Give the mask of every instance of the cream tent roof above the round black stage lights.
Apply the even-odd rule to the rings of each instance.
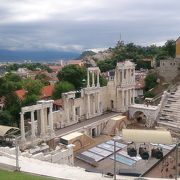
[[[122,139],[126,142],[172,144],[171,134],[165,130],[123,129]]]

